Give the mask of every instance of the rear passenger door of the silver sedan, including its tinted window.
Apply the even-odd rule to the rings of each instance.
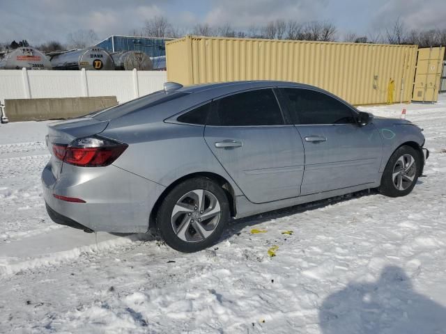
[[[299,196],[302,140],[293,125],[285,124],[271,88],[213,101],[204,138],[251,202]]]

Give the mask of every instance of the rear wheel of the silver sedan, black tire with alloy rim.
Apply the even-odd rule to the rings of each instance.
[[[207,177],[194,177],[167,194],[157,212],[156,227],[171,248],[197,252],[220,239],[229,212],[224,189]]]

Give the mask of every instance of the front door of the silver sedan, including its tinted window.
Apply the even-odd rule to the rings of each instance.
[[[301,195],[378,180],[383,143],[373,124],[360,127],[351,106],[321,91],[279,92],[305,147]]]

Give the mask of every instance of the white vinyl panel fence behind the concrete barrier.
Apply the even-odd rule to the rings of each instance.
[[[166,81],[165,71],[0,70],[0,101],[116,96],[123,103],[161,90]]]

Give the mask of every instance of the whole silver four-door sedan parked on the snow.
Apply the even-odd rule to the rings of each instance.
[[[429,151],[422,129],[325,90],[240,81],[164,90],[49,125],[44,198],[86,232],[157,228],[183,252],[240,218],[379,188],[404,196]]]

